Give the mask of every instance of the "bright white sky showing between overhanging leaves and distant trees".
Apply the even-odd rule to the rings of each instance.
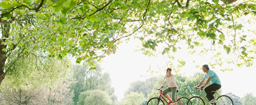
[[[124,92],[129,88],[130,83],[138,80],[145,80],[151,77],[146,72],[151,65],[151,70],[158,71],[158,68],[166,68],[166,61],[161,54],[158,57],[147,57],[141,52],[135,52],[137,45],[141,45],[139,41],[131,40],[129,43],[123,43],[119,46],[116,54],[112,54],[104,58],[102,69],[104,72],[110,74],[112,85],[115,89],[115,94],[118,96],[118,100],[121,101],[124,98]],[[180,57],[183,57],[182,54]],[[204,65],[206,61],[199,60],[197,65]],[[193,75],[196,72],[202,72],[201,69],[194,68],[195,64],[186,61],[186,67],[181,69],[185,75]],[[209,67],[211,69],[211,67]],[[221,72],[218,69],[214,70],[220,77],[224,93],[232,92],[233,94],[243,97],[246,93],[253,93],[256,96],[256,90],[253,88],[252,77],[256,73],[255,65],[251,68],[238,68],[234,71]],[[165,69],[163,69],[165,71]],[[165,72],[163,72],[163,75]],[[141,77],[143,75],[143,77]],[[198,81],[199,83],[200,81]]]

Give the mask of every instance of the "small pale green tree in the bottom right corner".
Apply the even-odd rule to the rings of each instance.
[[[247,93],[242,99],[241,102],[243,105],[255,105],[256,97],[252,93]]]

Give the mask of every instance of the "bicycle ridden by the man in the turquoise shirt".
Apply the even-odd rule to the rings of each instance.
[[[200,89],[200,87],[197,87],[196,89]],[[209,103],[210,105],[234,105],[232,99],[229,96],[221,95],[217,91],[212,91],[212,92],[215,92],[214,97],[217,98],[216,99],[217,102],[216,103],[209,103],[207,101],[207,103]],[[200,89],[199,96],[193,96],[193,97],[189,98],[189,100],[187,101],[187,105],[205,105],[204,100],[208,100],[208,99],[202,93],[205,93],[203,88]]]

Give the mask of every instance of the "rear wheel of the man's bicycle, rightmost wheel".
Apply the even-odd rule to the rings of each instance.
[[[229,96],[221,95],[217,98],[216,105],[234,105],[234,103]]]

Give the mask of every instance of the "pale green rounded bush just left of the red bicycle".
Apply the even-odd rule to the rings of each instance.
[[[130,92],[125,96],[122,105],[142,105],[145,101],[146,98],[142,93]]]

